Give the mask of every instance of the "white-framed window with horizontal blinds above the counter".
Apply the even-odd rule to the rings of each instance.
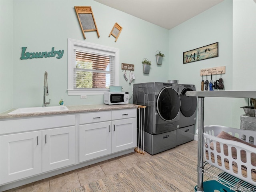
[[[68,39],[68,95],[98,95],[119,84],[119,49]]]

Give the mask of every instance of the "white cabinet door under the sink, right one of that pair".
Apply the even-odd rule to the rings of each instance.
[[[76,127],[42,131],[42,172],[76,162]]]

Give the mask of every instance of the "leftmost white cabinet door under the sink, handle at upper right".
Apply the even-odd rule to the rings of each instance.
[[[42,131],[0,136],[0,184],[42,172]]]

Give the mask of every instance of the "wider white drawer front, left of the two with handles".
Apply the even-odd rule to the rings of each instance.
[[[111,120],[111,111],[85,113],[85,114],[79,115],[79,124],[110,121],[110,120]]]

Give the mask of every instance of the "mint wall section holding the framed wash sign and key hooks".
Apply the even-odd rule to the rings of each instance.
[[[170,30],[169,35],[170,79],[178,79],[184,84],[194,84],[196,90],[201,90],[200,69],[226,66],[226,74],[222,75],[224,86],[225,90],[232,90],[232,1],[224,1],[191,18]],[[218,57],[183,64],[183,52],[215,42],[219,42]],[[213,76],[213,80],[215,78],[216,76]],[[217,76],[218,78],[220,75]],[[208,80],[210,81],[210,76]],[[225,116],[222,113],[216,115],[222,112],[223,106],[230,110],[227,100],[227,98],[204,99],[205,124],[231,126],[232,113],[228,112]],[[218,118],[218,122],[215,118]]]

